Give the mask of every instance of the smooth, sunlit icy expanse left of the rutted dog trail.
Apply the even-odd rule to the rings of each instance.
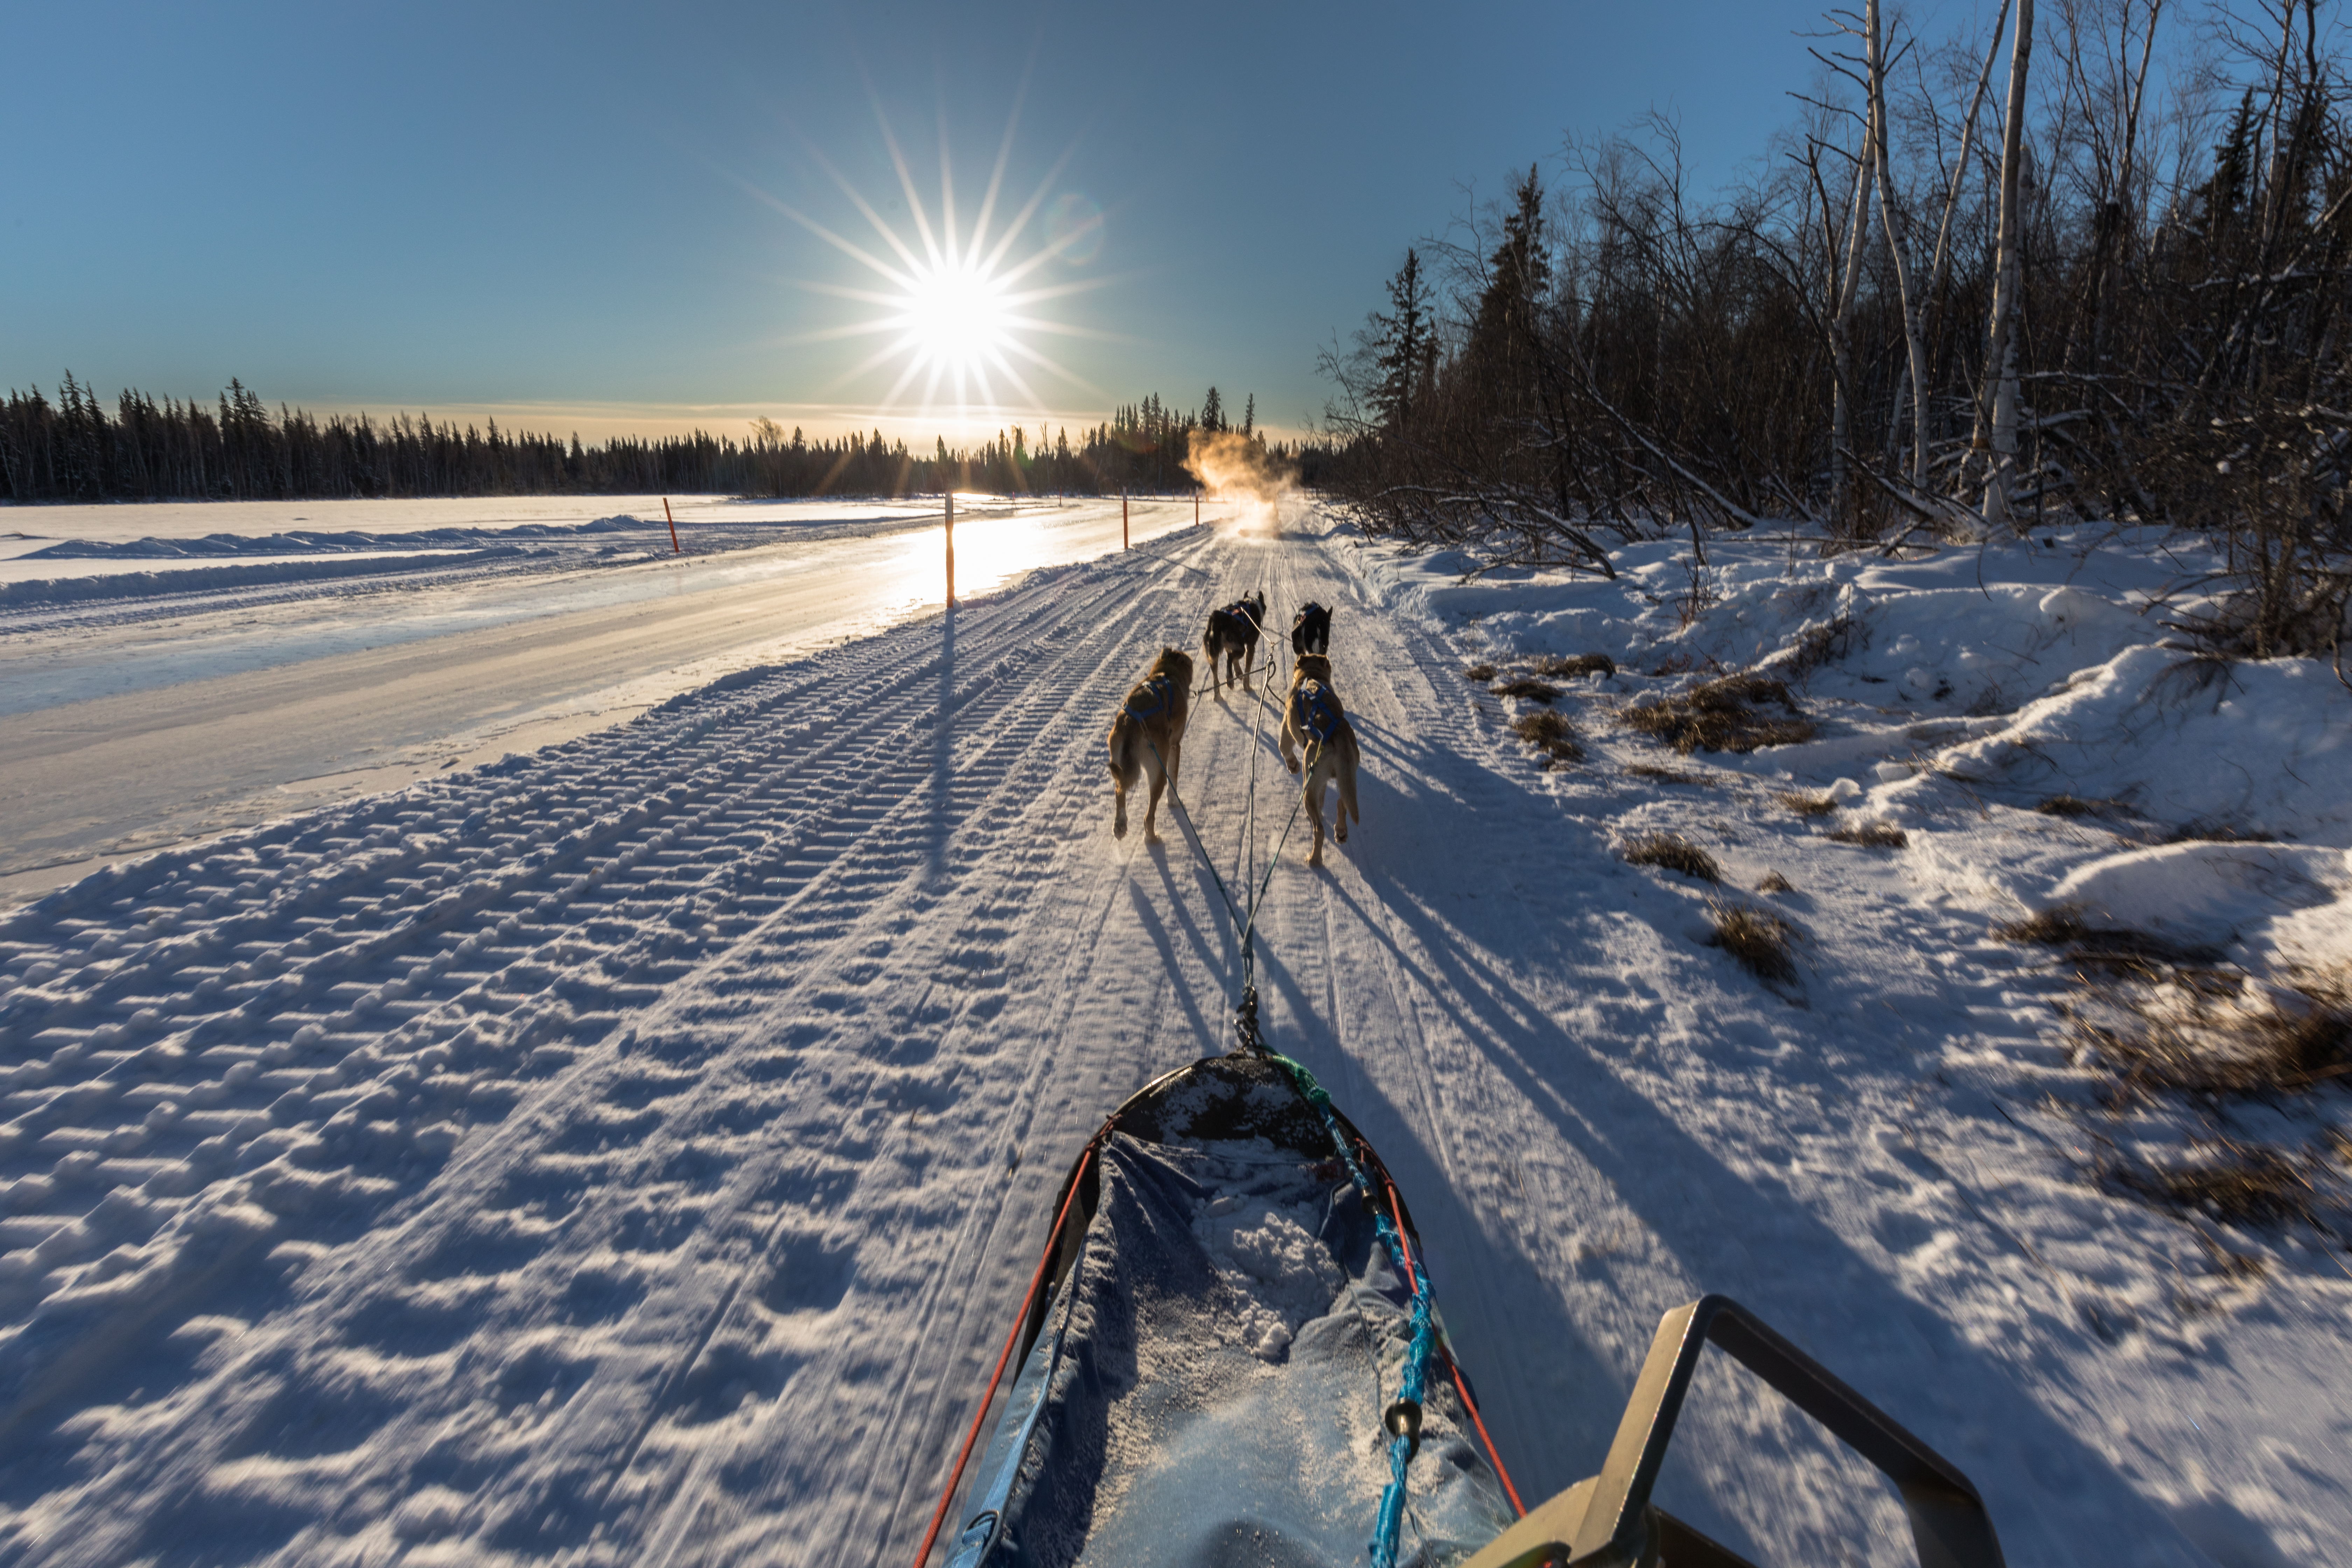
[[[386,505],[310,503],[301,522],[383,529]],[[52,543],[14,562],[85,576],[21,581],[24,602],[0,602],[0,903],[106,858],[564,741],[941,599],[936,517],[880,503],[814,517],[696,505],[684,557],[668,552],[659,508],[649,524],[449,527],[466,508],[440,503],[390,522],[445,524],[449,548],[393,557],[348,545],[435,536],[183,536],[240,508],[26,508],[24,522],[122,534],[125,515],[148,510],[162,536]],[[971,592],[1115,548],[1122,527],[1117,498],[964,510],[957,574]],[[1134,538],[1192,512],[1138,501]],[[273,541],[320,548],[254,555]],[[115,567],[146,571],[132,583]]]

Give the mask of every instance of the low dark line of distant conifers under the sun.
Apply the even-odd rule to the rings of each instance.
[[[365,496],[543,496],[717,491],[736,496],[898,496],[948,484],[1000,494],[1110,494],[1190,489],[1195,433],[1228,430],[1209,388],[1178,414],[1152,393],[1122,407],[1073,444],[1063,428],[1009,425],[978,449],[936,440],[929,454],[880,430],[807,440],[767,418],[750,435],[614,437],[588,447],[574,435],[510,433],[428,416],[318,418],[268,404],[230,381],[214,404],[125,390],[113,414],[71,374],[56,402],[35,386],[0,404],[0,498],[7,501],[332,501]],[[1256,397],[1237,430],[1256,430]],[[1270,456],[1315,465],[1319,449],[1270,444]]]

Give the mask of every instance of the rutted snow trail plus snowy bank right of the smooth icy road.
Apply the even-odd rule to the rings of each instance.
[[[2164,541],[1710,548],[1693,599],[1672,543],[1463,583],[1315,517],[1181,531],[19,910],[0,1559],[908,1561],[1068,1159],[1230,1039],[1211,879],[1110,837],[1101,731],[1263,585],[1338,604],[1367,752],[1357,835],[1272,872],[1268,1039],[1404,1182],[1522,1493],[1590,1474],[1658,1314],[1724,1291],[1955,1458],[2011,1563],[2333,1561],[2343,1234],[2100,1175],[2300,1157],[2340,1079],[2119,1100],[2060,1041],[2074,966],[1997,926],[2079,905],[2288,1006],[2352,957],[2352,693],[2159,646],[2199,569]],[[1585,651],[1618,672],[1548,705],[1463,677]],[[1818,733],[1616,722],[1743,665]],[[1538,708],[1581,762],[1512,733]],[[1287,804],[1254,719],[1202,701],[1185,743],[1228,879]],[[1653,832],[1722,884],[1628,865]],[[1795,978],[1712,903],[1788,922]],[[1910,1559],[1722,1366],[1661,1502],[1766,1563]]]

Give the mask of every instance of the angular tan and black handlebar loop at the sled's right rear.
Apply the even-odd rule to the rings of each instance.
[[[1903,1493],[1919,1568],[2002,1568],[2002,1542],[1976,1486],[1729,1295],[1703,1295],[1658,1324],[1602,1474],[1538,1505],[1463,1568],[1651,1568],[1661,1561],[1670,1568],[1755,1568],[1649,1502],[1708,1340],[1886,1472]]]

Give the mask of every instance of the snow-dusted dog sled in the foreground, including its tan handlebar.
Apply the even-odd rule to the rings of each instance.
[[[1665,1314],[1602,1472],[1522,1514],[1402,1194],[1284,1058],[1141,1088],[1054,1213],[950,1568],[1755,1568],[1649,1502],[1708,1342],[1896,1481],[1922,1568],[2002,1568],[1966,1476],[1722,1295]]]

